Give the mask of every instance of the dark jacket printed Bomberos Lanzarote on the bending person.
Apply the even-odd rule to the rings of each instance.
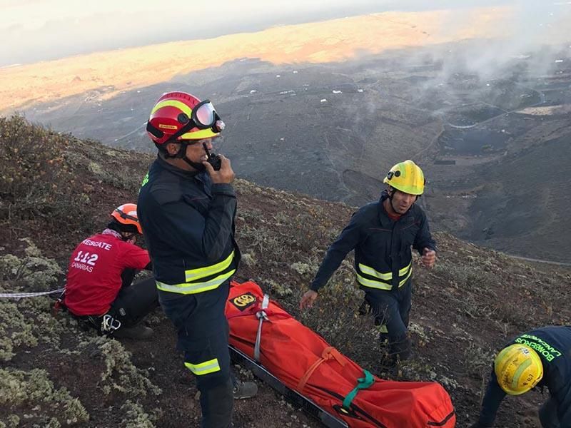
[[[504,347],[522,343],[532,347],[540,356],[543,377],[536,387],[547,387],[557,402],[557,417],[561,427],[571,427],[571,326],[550,325],[522,333]],[[502,348],[503,349],[503,348]],[[480,411],[480,424],[491,427],[497,409],[505,397],[504,390],[497,383],[492,367],[490,382]]]

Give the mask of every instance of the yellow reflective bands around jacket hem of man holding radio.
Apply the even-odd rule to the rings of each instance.
[[[236,272],[236,269],[224,272],[224,270],[228,269],[231,265],[233,259],[234,252],[232,251],[226,259],[216,263],[216,265],[186,270],[184,275],[187,282],[182,282],[181,284],[165,284],[164,282],[156,281],[156,287],[158,290],[178,292],[179,294],[195,294],[197,292],[214,290]],[[220,272],[223,273],[211,280],[200,282],[201,279],[216,275]]]

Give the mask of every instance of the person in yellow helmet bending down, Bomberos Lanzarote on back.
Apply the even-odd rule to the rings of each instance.
[[[505,394],[520,395],[546,386],[550,398],[539,411],[543,428],[571,428],[571,327],[540,327],[498,353],[478,421],[471,428],[492,427]]]

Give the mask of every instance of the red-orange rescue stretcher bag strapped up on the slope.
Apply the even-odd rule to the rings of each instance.
[[[269,300],[255,282],[231,282],[226,317],[233,358],[255,363],[254,374],[328,427],[455,426],[454,407],[440,384],[373,376]]]

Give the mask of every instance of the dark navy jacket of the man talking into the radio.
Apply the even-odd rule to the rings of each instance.
[[[157,158],[139,191],[137,215],[157,281],[186,282],[186,270],[220,263],[233,250],[226,270],[238,267],[236,193],[230,184],[212,183],[206,171],[191,173]]]

